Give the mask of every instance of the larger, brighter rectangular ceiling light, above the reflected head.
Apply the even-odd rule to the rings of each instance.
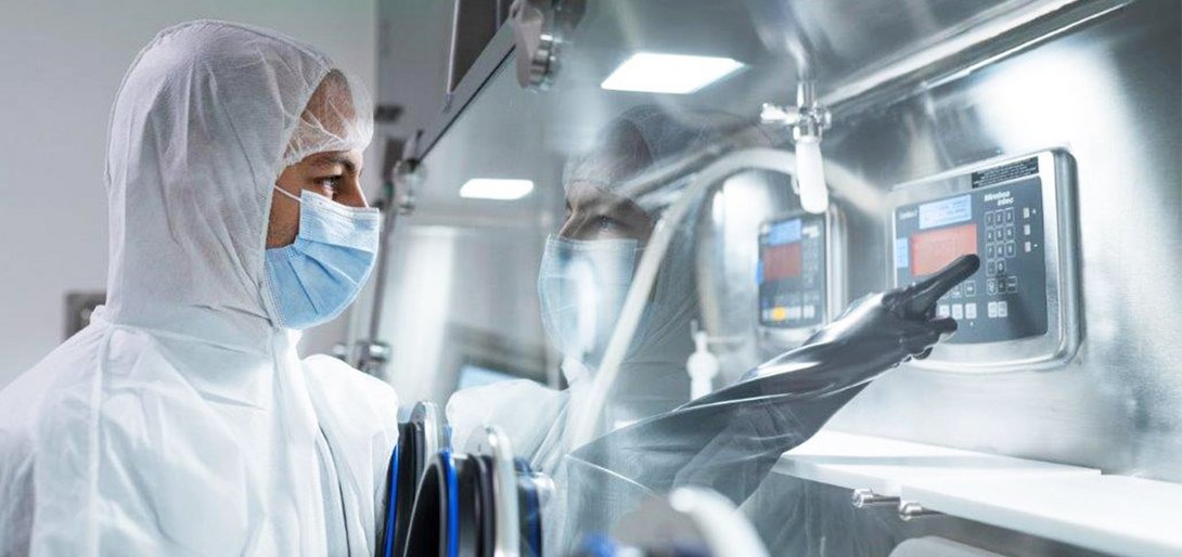
[[[730,58],[637,52],[624,60],[600,87],[647,93],[693,93],[742,67]]]

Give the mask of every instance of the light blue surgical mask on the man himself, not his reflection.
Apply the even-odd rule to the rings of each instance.
[[[349,306],[374,269],[382,214],[352,208],[304,190],[296,242],[266,253],[266,288],[278,326],[292,329],[327,322]]]

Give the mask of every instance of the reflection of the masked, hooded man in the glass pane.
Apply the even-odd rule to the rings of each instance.
[[[567,162],[563,172],[566,217],[546,242],[538,288],[543,321],[563,354],[561,368],[571,387],[556,393],[518,381],[456,393],[448,404],[456,446],[463,446],[472,428],[492,422],[509,432],[519,454],[532,454],[533,464],[544,470],[570,448],[566,420],[590,386],[636,266],[670,199],[668,186],[639,198],[629,197],[622,186],[716,140],[735,120],[728,124],[721,125],[713,116],[675,117],[638,106],[609,123],[590,151]],[[686,361],[694,349],[690,322],[697,319],[690,230],[689,225],[678,230],[661,263],[604,412],[611,428],[689,399]]]

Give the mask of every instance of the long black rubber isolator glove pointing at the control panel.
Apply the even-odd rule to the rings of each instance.
[[[921,282],[858,300],[739,382],[576,448],[570,473],[643,492],[707,486],[742,502],[780,454],[808,440],[871,380],[927,356],[954,333],[955,321],[935,316],[936,300],[980,266],[967,255]]]

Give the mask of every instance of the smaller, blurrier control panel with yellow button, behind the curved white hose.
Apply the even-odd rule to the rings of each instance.
[[[765,222],[759,234],[759,322],[778,348],[807,339],[845,303],[844,262],[836,209]]]

